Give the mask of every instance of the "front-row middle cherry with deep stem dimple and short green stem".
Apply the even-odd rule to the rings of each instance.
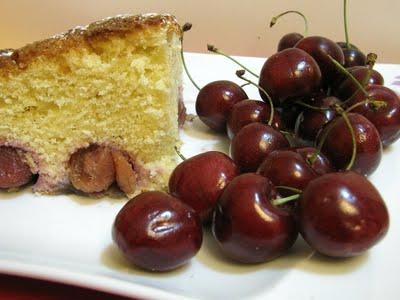
[[[222,252],[242,263],[261,263],[285,253],[296,241],[294,217],[272,205],[276,192],[260,175],[236,177],[218,201],[212,232]]]

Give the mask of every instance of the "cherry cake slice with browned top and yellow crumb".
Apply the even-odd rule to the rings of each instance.
[[[118,16],[0,51],[0,188],[25,184],[24,164],[39,193],[166,187],[184,114],[181,35],[170,15]],[[10,151],[17,162],[1,164]]]

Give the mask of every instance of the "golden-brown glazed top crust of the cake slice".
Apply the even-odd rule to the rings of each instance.
[[[28,44],[19,49],[0,50],[0,73],[25,69],[38,57],[54,57],[60,53],[115,36],[125,36],[150,27],[167,27],[182,35],[176,18],[169,14],[120,15],[79,26],[52,38]]]

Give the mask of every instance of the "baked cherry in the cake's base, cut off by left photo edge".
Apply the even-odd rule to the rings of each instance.
[[[0,189],[19,188],[28,184],[32,178],[23,151],[0,146]]]

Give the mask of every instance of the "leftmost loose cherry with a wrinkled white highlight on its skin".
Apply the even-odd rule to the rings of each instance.
[[[146,192],[126,203],[114,221],[112,236],[131,263],[149,271],[184,265],[203,240],[197,214],[162,192]]]

